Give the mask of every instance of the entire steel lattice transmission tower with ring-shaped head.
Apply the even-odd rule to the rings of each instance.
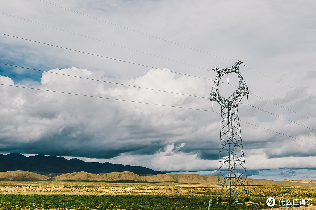
[[[217,101],[222,106],[217,200],[219,200],[223,188],[226,188],[230,200],[234,198],[235,201],[238,201],[240,186],[250,200],[237,110],[242,97],[248,94],[248,87],[239,72],[239,65],[241,63],[238,60],[230,68],[220,70],[215,67],[213,69],[217,75],[210,97],[211,101]],[[226,99],[219,95],[218,86],[222,76],[229,73],[237,74],[239,87]]]

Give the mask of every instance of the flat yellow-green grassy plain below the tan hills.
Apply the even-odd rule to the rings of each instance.
[[[178,183],[109,183],[92,181],[3,181],[0,209],[265,209],[267,198],[313,199],[315,187],[249,186],[250,200],[240,191],[237,202],[229,201],[224,190],[217,201],[217,187]]]

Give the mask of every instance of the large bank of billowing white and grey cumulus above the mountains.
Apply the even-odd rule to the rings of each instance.
[[[135,78],[112,78],[106,77],[103,71],[76,67],[52,69],[43,73],[40,85],[22,85],[111,99],[2,85],[1,150],[6,153],[82,157],[88,161],[143,165],[170,172],[216,170],[220,115],[168,107],[209,109],[208,99],[181,95],[204,97],[206,95],[197,93],[207,92],[209,82],[189,76],[176,78],[170,70],[164,70],[151,69]],[[9,77],[0,77],[0,81],[14,84]],[[132,86],[172,90],[181,94]],[[304,134],[304,130],[286,131],[280,119],[272,119],[270,124],[258,119],[259,116],[250,116],[247,121],[298,135],[302,140],[314,136]],[[313,147],[307,147],[302,141],[288,141],[284,136],[245,124],[242,124],[241,130],[245,136],[244,150],[249,175],[258,175],[258,169],[289,165],[297,168],[316,167],[315,163],[306,162],[313,156]],[[279,143],[274,139],[279,139]],[[295,153],[291,152],[294,147]],[[280,175],[287,176],[288,173]]]

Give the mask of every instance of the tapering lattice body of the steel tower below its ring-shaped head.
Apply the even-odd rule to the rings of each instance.
[[[240,186],[249,199],[237,105],[222,106],[217,200],[226,188],[230,200],[238,201]]]

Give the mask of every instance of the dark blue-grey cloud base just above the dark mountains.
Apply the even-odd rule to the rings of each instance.
[[[121,153],[131,155],[151,155],[163,150],[164,145],[144,145],[138,143],[121,142],[100,142],[89,139],[89,136],[70,138],[68,135],[77,128],[70,128],[63,131],[62,135],[51,135],[45,139],[38,139],[33,143],[19,143],[2,145],[2,150],[6,152],[19,152],[28,154],[45,154],[55,156],[76,156],[87,158],[112,158]]]

